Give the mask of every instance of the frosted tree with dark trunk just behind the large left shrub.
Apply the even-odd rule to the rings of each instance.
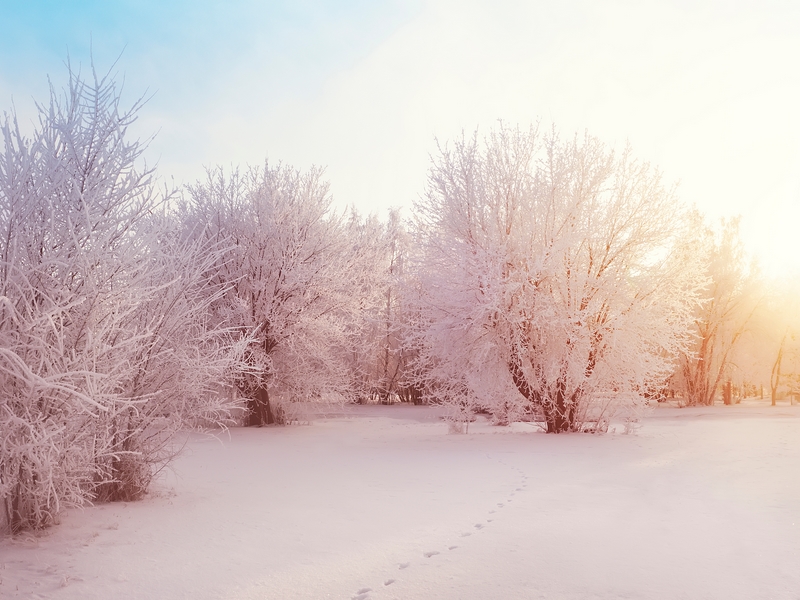
[[[296,401],[352,398],[348,361],[376,301],[380,240],[332,210],[322,170],[210,171],[182,210],[202,239],[229,245],[210,274],[231,289],[212,314],[252,340],[239,382],[247,424],[287,422]]]

